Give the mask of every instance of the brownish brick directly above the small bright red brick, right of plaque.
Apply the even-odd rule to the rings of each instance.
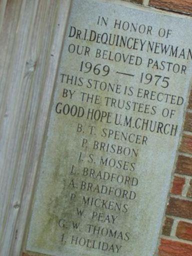
[[[192,176],[192,157],[179,155],[175,172]]]

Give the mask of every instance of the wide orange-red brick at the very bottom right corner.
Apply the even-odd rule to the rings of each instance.
[[[192,245],[184,242],[161,239],[158,251],[159,256],[191,256]]]

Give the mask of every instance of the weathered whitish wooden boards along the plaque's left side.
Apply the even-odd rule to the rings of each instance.
[[[0,255],[21,253],[69,3],[0,2]]]

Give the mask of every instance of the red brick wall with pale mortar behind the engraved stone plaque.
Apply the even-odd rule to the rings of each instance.
[[[192,0],[143,0],[167,11],[192,15]],[[192,30],[191,30],[192,32]],[[159,256],[192,256],[192,90],[162,227]]]

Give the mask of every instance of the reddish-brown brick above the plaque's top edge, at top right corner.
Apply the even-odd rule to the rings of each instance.
[[[150,0],[150,6],[192,14],[192,0]]]

